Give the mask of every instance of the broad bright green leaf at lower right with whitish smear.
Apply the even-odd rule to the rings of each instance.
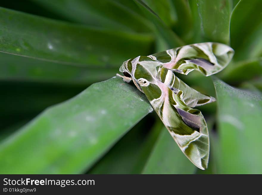
[[[214,79],[220,138],[218,173],[261,174],[262,97]]]

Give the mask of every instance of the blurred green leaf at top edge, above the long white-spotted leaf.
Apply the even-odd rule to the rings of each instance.
[[[130,0],[33,0],[69,21],[124,31],[149,32],[148,21]],[[62,5],[62,6],[61,6]]]

